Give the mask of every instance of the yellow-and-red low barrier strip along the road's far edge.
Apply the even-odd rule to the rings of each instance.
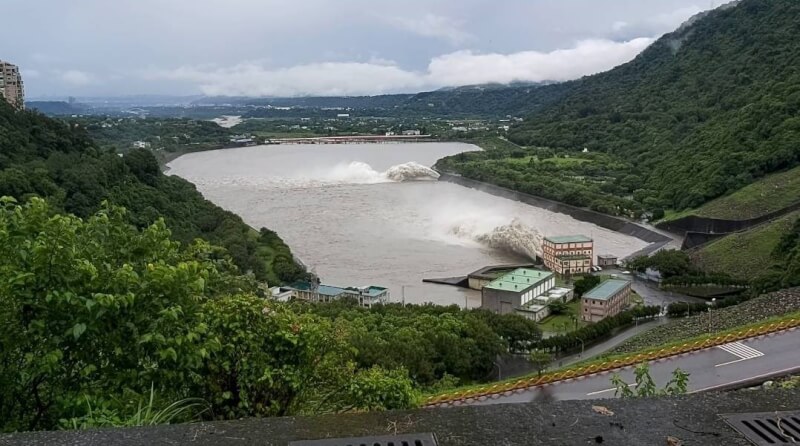
[[[624,358],[613,359],[607,362],[589,364],[574,369],[545,373],[541,376],[535,376],[532,378],[490,384],[476,389],[465,389],[462,391],[454,391],[452,393],[436,395],[429,397],[422,404],[422,407],[454,406],[458,405],[459,403],[468,402],[469,400],[482,400],[492,396],[510,395],[520,390],[527,390],[533,387],[543,386],[545,384],[552,384],[583,376],[591,376],[601,372],[607,372],[610,370],[636,365],[645,361],[669,358],[671,356],[703,350],[709,347],[715,347],[717,345],[727,344],[729,342],[741,341],[743,339],[762,336],[768,333],[774,333],[795,327],[800,327],[800,318],[791,318],[784,321],[771,322],[761,326],[742,329],[713,338],[706,338],[694,342],[686,342],[671,347],[638,353],[635,355],[626,356]]]

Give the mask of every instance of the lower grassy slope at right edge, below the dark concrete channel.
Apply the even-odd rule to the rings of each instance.
[[[734,277],[756,277],[774,263],[772,252],[800,211],[775,221],[714,240],[690,254],[692,262],[706,271],[720,271]]]

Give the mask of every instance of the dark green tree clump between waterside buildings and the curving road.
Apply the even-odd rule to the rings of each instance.
[[[541,339],[534,321],[515,314],[463,311],[455,305],[296,305],[349,327],[347,342],[358,352],[359,367],[403,367],[424,387],[486,380],[499,355],[527,352]]]

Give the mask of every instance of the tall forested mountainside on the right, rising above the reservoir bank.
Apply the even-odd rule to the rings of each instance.
[[[696,207],[793,167],[800,161],[798,17],[793,0],[714,10],[629,63],[559,85],[568,92],[509,135],[553,149],[516,158],[589,158],[579,154],[584,149],[607,158],[493,165],[512,154],[485,154],[450,167],[531,193],[565,186],[571,193],[553,198],[623,214]],[[526,177],[529,164],[537,165],[535,178]],[[542,183],[550,172],[555,184]]]

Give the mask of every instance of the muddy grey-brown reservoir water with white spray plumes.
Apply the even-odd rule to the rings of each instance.
[[[392,301],[480,305],[480,293],[423,278],[529,261],[543,235],[584,234],[595,254],[646,246],[624,234],[436,181],[462,143],[268,145],[198,152],[169,165],[249,225],[278,233],[322,279],[390,288]]]

